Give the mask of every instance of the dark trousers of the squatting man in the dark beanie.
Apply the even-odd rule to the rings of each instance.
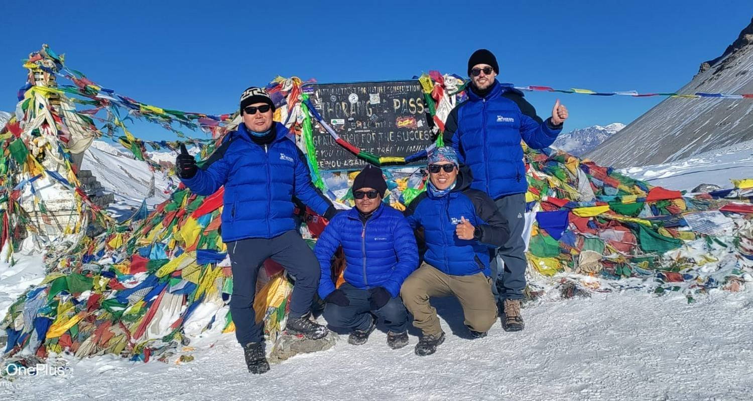
[[[382,308],[372,311],[369,306],[371,298],[369,290],[361,290],[348,283],[343,283],[340,290],[343,290],[345,295],[348,296],[350,305],[340,306],[328,303],[325,306],[324,317],[331,326],[351,330],[366,330],[371,323],[371,312],[373,312],[377,315],[377,318],[384,320],[387,329],[392,333],[403,333],[407,329],[408,312],[399,296],[390,298],[389,302]]]

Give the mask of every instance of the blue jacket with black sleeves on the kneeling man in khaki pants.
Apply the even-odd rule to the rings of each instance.
[[[423,259],[448,275],[491,275],[489,248],[500,247],[510,238],[507,220],[486,193],[471,189],[472,180],[468,167],[462,166],[450,193],[437,198],[426,191],[405,209],[416,238],[425,245]],[[461,217],[479,228],[480,235],[458,238],[455,226]]]

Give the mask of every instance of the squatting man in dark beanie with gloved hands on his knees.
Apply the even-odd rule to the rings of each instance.
[[[382,202],[386,190],[382,170],[366,166],[353,181],[355,208],[332,219],[314,253],[322,266],[319,296],[327,302],[324,316],[329,324],[351,330],[348,342],[362,345],[380,317],[389,330],[387,345],[398,349],[408,344],[400,287],[418,267],[419,255],[403,214]],[[335,288],[330,260],[340,245],[345,283]]]

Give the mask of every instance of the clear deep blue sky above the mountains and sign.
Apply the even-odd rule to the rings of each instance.
[[[42,43],[118,93],[212,114],[233,111],[245,87],[277,74],[319,82],[465,74],[480,47],[497,56],[503,82],[671,92],[753,16],[750,0],[316,3],[3,2],[0,110],[15,108],[21,60]],[[570,109],[567,130],[630,123],[658,102],[526,97],[544,117],[559,97]],[[172,138],[147,124],[134,133]]]

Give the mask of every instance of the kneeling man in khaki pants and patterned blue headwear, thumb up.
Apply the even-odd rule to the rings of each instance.
[[[425,242],[424,263],[401,289],[413,326],[422,333],[416,345],[419,356],[434,354],[444,342],[431,296],[456,296],[471,336],[486,336],[497,318],[489,247],[504,244],[510,236],[492,199],[471,189],[471,172],[459,167],[452,147],[437,147],[428,163],[426,192],[405,210],[416,236]]]

